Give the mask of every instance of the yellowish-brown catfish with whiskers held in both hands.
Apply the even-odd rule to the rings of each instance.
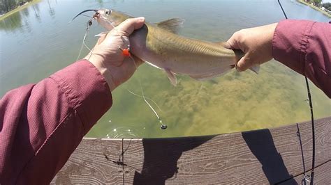
[[[108,31],[132,18],[105,8],[93,11],[96,12],[94,19]],[[131,54],[164,70],[174,86],[177,84],[175,74],[186,74],[197,80],[212,79],[233,69],[236,61],[244,56],[241,50],[226,49],[223,42],[207,42],[177,35],[183,22],[183,19],[177,18],[156,24],[145,22],[141,29],[129,37]],[[259,66],[251,70],[258,73]]]

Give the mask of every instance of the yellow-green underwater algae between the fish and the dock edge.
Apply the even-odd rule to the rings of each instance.
[[[146,72],[148,76],[144,75]],[[137,83],[134,79],[113,94],[113,107],[121,111],[110,110],[110,117],[136,129],[141,127],[140,131],[147,127],[143,130],[146,137],[222,134],[279,127],[310,118],[309,106],[304,102],[307,98],[304,78],[277,61],[262,65],[258,75],[233,70],[202,83],[180,76],[177,87],[170,85],[161,70],[148,65],[140,67],[135,75],[142,79],[145,95],[161,106],[160,115],[168,129],[159,129],[142,99],[126,95],[126,87],[133,88]],[[331,102],[320,101],[327,99],[323,92],[314,87],[312,94],[313,102],[318,102],[314,105],[316,118],[330,116]],[[94,130],[102,129],[97,125]]]

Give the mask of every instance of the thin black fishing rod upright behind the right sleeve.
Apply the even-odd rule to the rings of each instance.
[[[286,19],[288,19],[283,6],[281,6],[280,0],[278,0],[279,6],[281,7],[281,10],[283,11],[283,14]],[[310,88],[309,88],[309,83],[306,74],[304,74],[304,79],[306,80],[306,86],[307,86],[307,94],[308,94],[308,99],[309,99],[309,108],[310,108],[310,114],[311,114],[311,129],[312,129],[312,137],[313,137],[313,159],[311,160],[311,174],[305,175],[304,172],[304,179],[307,182],[310,182],[310,184],[313,184],[314,182],[314,168],[315,168],[315,124],[314,124],[314,112],[313,112],[313,103],[311,101],[311,93],[310,93]],[[306,183],[304,183],[306,184]]]

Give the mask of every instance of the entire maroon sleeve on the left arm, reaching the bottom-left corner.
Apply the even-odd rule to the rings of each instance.
[[[89,61],[10,90],[0,100],[0,184],[49,184],[111,105]]]

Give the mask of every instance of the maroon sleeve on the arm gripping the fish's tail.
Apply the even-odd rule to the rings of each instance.
[[[272,42],[274,59],[306,75],[331,98],[331,24],[284,20]]]

